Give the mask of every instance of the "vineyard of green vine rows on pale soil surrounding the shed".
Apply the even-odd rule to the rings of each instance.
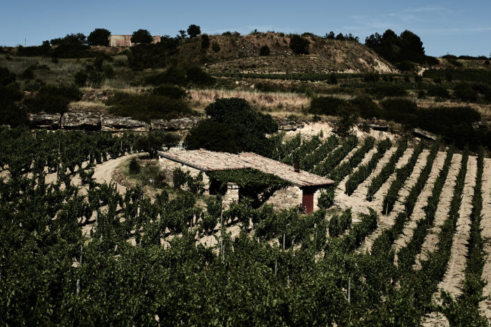
[[[247,198],[223,210],[198,187],[148,196],[116,185],[116,162],[137,152],[132,134],[0,134],[1,325],[491,319],[491,159],[482,148],[276,134],[272,159],[336,182],[307,215]]]

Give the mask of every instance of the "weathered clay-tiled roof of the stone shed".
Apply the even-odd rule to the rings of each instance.
[[[231,154],[208,150],[159,151],[159,156],[196,168],[203,172],[253,168],[263,173],[276,175],[299,187],[327,186],[334,181],[300,170],[295,173],[293,166],[265,158],[253,152]]]

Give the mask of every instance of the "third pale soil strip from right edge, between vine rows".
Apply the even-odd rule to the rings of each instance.
[[[450,202],[453,197],[453,188],[455,181],[457,180],[458,170],[460,169],[460,161],[462,160],[462,154],[453,154],[452,163],[449,168],[449,175],[447,175],[445,184],[440,195],[440,200],[435,213],[435,221],[433,227],[429,230],[426,239],[421,247],[421,253],[416,255],[416,263],[414,269],[420,269],[420,260],[426,260],[426,255],[436,249],[438,244],[438,233],[446,217],[449,215]]]

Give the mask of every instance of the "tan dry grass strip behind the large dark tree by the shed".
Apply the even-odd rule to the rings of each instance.
[[[246,99],[252,106],[268,112],[302,113],[302,107],[309,106],[310,99],[296,93],[261,93],[245,90],[191,90],[196,109],[203,109],[216,99],[240,97]]]

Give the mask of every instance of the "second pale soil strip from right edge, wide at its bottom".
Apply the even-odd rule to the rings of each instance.
[[[474,195],[474,186],[476,185],[477,159],[469,157],[467,161],[467,175],[465,176],[465,186],[462,191],[462,204],[460,205],[457,228],[452,239],[452,249],[447,265],[446,272],[438,288],[444,289],[457,298],[462,294],[462,284],[465,280],[465,262],[467,261],[467,244],[469,242],[469,232],[471,230],[471,211],[472,196]],[[439,292],[437,292],[439,294]],[[437,295],[435,294],[435,296]]]

